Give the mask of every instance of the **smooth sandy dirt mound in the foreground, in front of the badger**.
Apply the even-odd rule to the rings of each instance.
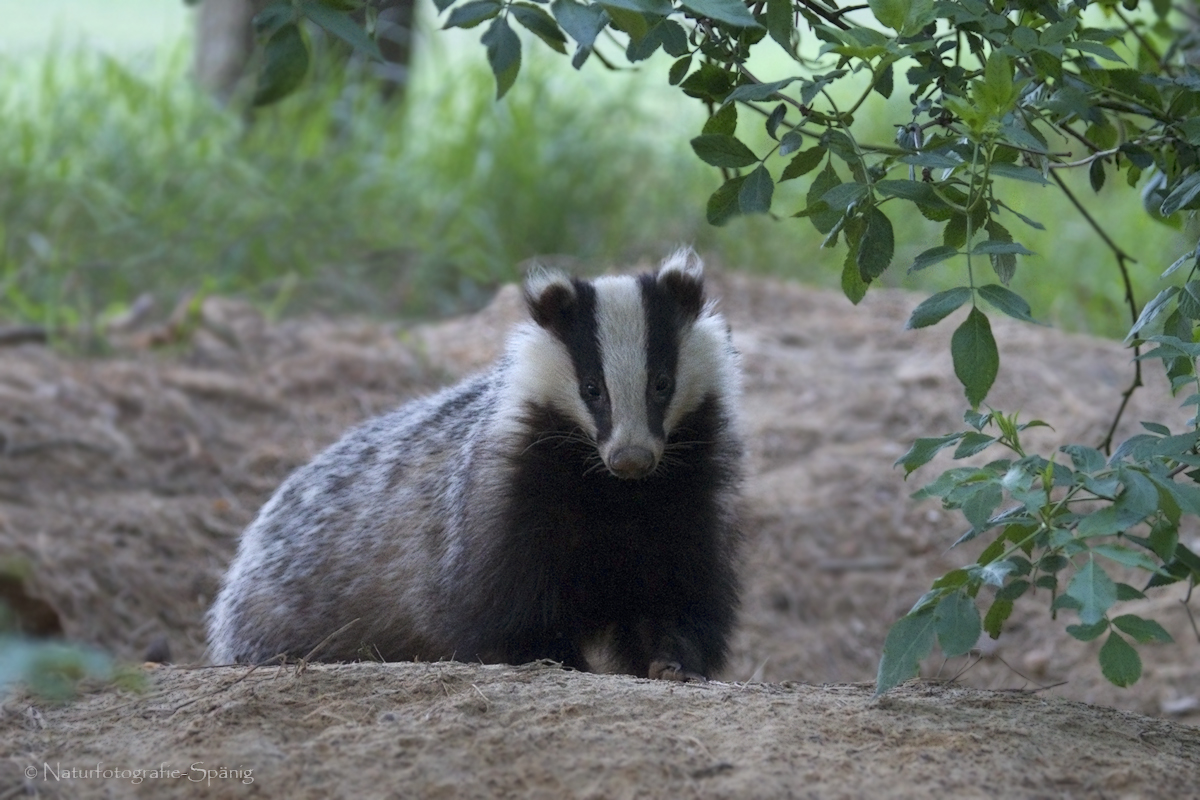
[[[0,784],[49,798],[1187,798],[1200,757],[1187,726],[938,685],[876,703],[863,685],[544,664],[157,672],[144,696],[24,717]]]

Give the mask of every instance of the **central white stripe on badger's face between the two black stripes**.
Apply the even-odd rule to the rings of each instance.
[[[635,278],[607,277],[595,282],[596,338],[605,389],[612,408],[612,433],[604,451],[624,445],[662,445],[650,435],[646,414],[646,311]]]

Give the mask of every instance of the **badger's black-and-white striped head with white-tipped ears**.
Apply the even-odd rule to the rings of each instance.
[[[535,325],[511,350],[511,399],[569,417],[616,477],[652,474],[690,411],[738,391],[728,329],[706,302],[690,249],[656,273],[580,281],[538,272],[524,296]]]

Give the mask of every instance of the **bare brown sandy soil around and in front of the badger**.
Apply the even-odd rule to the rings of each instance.
[[[1018,603],[997,642],[931,658],[926,676],[942,682],[882,702],[853,685],[874,678],[888,625],[929,582],[977,554],[947,551],[955,516],[908,499],[942,464],[907,483],[890,468],[913,438],[961,426],[956,317],[904,331],[919,301],[910,294],[872,293],[856,309],[738,276],[713,290],[745,359],[752,474],[728,682],[551,666],[162,667],[140,696],[97,687],[66,708],[7,698],[0,798],[1195,796],[1200,642],[1178,588],[1130,608],[1176,639],[1141,649],[1132,690],[1103,679],[1098,643],[1067,637],[1040,596]],[[132,661],[166,640],[178,664],[203,663],[204,609],[283,476],[348,425],[486,363],[517,318],[511,291],[475,317],[410,330],[268,324],[210,299],[167,350],[80,360],[7,348],[0,554],[32,564],[26,589],[68,637]],[[1132,377],[1128,351],[994,324],[1003,366],[989,402],[1050,421],[1034,439],[1045,447],[1098,441]],[[1134,396],[1126,434],[1186,416],[1158,378]],[[97,760],[184,772],[139,784],[42,774]],[[253,780],[197,783],[196,762]]]

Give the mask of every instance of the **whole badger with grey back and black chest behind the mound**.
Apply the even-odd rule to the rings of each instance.
[[[266,503],[209,613],[212,661],[720,670],[740,373],[702,269],[689,249],[528,277],[532,321],[490,371],[350,431]]]

